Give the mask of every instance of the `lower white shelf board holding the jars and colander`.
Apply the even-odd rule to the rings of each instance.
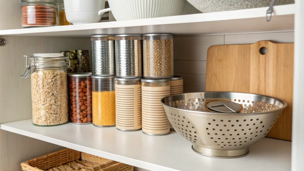
[[[196,154],[192,144],[174,131],[149,136],[142,131],[122,132],[92,124],[38,127],[31,120],[1,124],[0,128],[151,171],[291,170],[291,142],[271,138],[250,147],[245,157],[216,159]]]

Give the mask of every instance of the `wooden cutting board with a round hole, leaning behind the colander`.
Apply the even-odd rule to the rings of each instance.
[[[265,48],[267,53],[261,54]],[[273,41],[211,46],[206,91],[247,92],[285,100],[288,106],[267,136],[291,141],[293,50],[294,44]]]

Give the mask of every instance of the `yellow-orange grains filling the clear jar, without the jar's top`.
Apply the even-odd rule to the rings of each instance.
[[[92,92],[93,124],[96,126],[114,126],[115,91]]]

